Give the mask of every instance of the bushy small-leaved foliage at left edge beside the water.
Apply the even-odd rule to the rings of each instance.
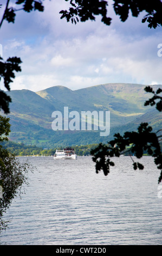
[[[7,141],[10,132],[9,118],[0,115],[0,142]],[[22,185],[27,184],[27,173],[32,170],[28,162],[20,163],[9,150],[0,145],[0,185],[3,196],[0,198],[0,232],[7,227],[3,214],[9,208],[17,193],[22,193]]]

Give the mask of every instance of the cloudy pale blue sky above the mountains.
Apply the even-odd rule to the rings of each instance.
[[[69,6],[65,0],[45,0],[43,13],[21,10],[14,24],[4,21],[0,54],[3,50],[4,59],[17,56],[23,62],[22,71],[15,73],[10,83],[11,90],[38,92],[52,86],[76,90],[106,83],[162,84],[162,54],[158,54],[162,28],[150,29],[147,22],[141,23],[143,13],[138,18],[129,15],[126,22],[121,22],[112,3],[109,1],[108,7],[111,26],[103,24],[101,16],[77,25],[61,20],[59,11]],[[0,19],[2,15],[3,8]],[[4,90],[3,81],[0,86]]]

